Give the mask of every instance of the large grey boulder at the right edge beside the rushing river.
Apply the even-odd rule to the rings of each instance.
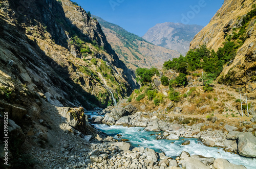
[[[245,157],[256,157],[256,137],[249,133],[238,134],[238,152]]]

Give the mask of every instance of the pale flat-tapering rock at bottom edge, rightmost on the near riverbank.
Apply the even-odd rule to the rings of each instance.
[[[243,165],[236,165],[236,164],[231,164],[228,160],[222,159],[222,158],[217,158],[214,161],[214,167],[216,169],[245,169],[246,167]]]

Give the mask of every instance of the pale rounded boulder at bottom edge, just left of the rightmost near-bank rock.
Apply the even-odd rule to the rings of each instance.
[[[189,169],[209,169],[208,166],[203,164],[201,161],[192,157],[186,157],[182,162],[182,168]]]

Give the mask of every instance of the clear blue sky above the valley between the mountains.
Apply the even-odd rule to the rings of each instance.
[[[143,36],[157,23],[206,26],[224,0],[73,0],[91,14]]]

